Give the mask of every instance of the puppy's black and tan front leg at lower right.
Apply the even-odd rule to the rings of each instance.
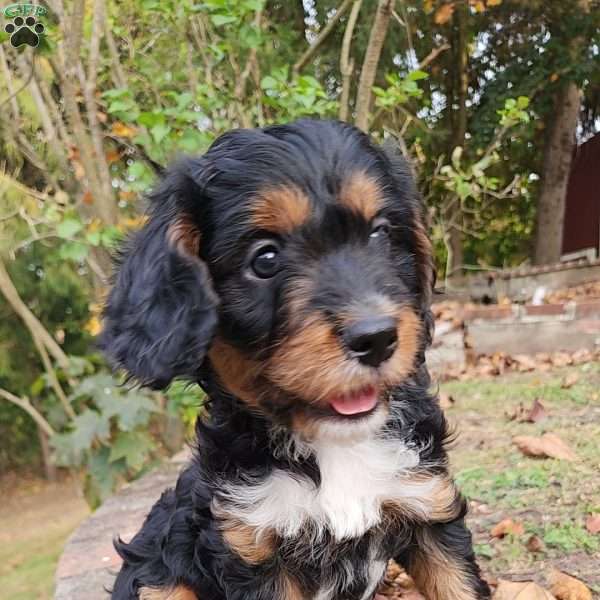
[[[464,519],[423,525],[399,562],[427,600],[482,600],[490,589],[475,562]]]

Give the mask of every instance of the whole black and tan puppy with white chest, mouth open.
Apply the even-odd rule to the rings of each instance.
[[[395,558],[486,598],[424,351],[431,249],[402,158],[348,125],[232,131],[152,195],[105,312],[113,363],[209,398],[113,598],[369,600]]]

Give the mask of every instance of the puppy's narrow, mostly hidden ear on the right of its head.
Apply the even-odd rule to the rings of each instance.
[[[403,196],[406,198],[405,201],[410,207],[412,222],[409,230],[412,236],[412,247],[417,267],[419,297],[423,311],[428,312],[435,286],[435,268],[431,241],[427,235],[423,202],[417,191],[412,169],[397,144],[388,138],[382,149],[390,163],[397,189],[402,191]]]

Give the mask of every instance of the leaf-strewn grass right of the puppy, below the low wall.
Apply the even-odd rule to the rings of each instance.
[[[577,379],[568,389],[561,385],[566,376]],[[600,534],[585,528],[586,517],[600,513],[600,365],[449,382],[442,390],[455,400],[446,411],[459,433],[451,461],[470,500],[470,526],[486,574],[545,583],[556,568],[600,593]],[[534,398],[544,404],[546,418],[507,418]],[[559,435],[578,460],[528,458],[511,442],[515,435],[545,432]],[[491,528],[505,518],[524,532],[493,538]],[[529,546],[537,547],[530,550],[532,536],[538,539]]]

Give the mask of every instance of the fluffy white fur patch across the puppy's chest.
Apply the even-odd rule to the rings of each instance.
[[[335,539],[362,536],[381,520],[381,505],[402,503],[427,517],[436,478],[413,478],[419,453],[401,441],[371,438],[359,442],[313,444],[321,484],[275,470],[259,484],[224,490],[238,518],[257,533],[273,530],[295,537],[307,529]]]

